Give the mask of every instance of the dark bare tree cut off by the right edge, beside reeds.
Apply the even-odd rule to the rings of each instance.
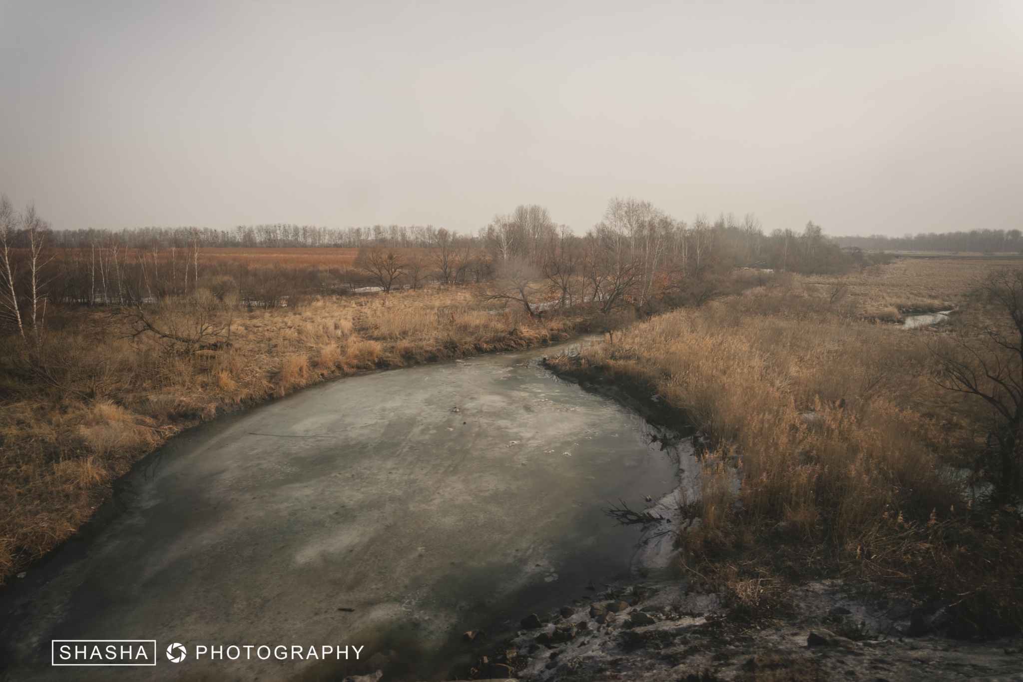
[[[994,496],[1011,502],[1020,495],[1023,448],[1023,268],[990,273],[979,293],[980,310],[968,313],[945,343],[932,344],[931,350],[940,362],[939,385],[991,408]]]

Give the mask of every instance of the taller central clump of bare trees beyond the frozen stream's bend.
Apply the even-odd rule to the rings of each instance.
[[[812,222],[801,232],[765,234],[752,214],[742,221],[698,216],[686,223],[650,201],[620,197],[609,201],[603,220],[583,235],[555,223],[545,208],[524,204],[495,216],[475,236],[453,238],[450,246],[432,242],[429,254],[433,272],[445,283],[451,281],[449,272],[473,263],[474,278],[489,282],[491,301],[530,317],[578,304],[593,304],[602,313],[699,304],[721,292],[737,267],[837,272],[868,264],[859,249],[843,251]],[[371,244],[360,249],[355,265],[391,291],[417,285],[416,258]]]

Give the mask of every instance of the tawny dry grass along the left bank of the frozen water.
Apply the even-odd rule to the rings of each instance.
[[[559,340],[576,323],[490,315],[478,301],[430,288],[225,309],[230,343],[190,350],[129,338],[126,319],[88,310],[64,313],[39,348],[5,339],[0,580],[71,537],[114,480],[182,428],[326,378]]]

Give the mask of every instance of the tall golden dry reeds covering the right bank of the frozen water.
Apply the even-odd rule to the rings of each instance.
[[[930,266],[897,267],[900,282]],[[976,270],[921,290],[962,297]],[[936,332],[866,321],[804,284],[667,313],[557,362],[660,394],[711,438],[683,562],[740,610],[777,603],[787,581],[845,576],[936,595],[963,634],[1018,628],[1019,519],[971,508],[948,474],[971,461],[983,415],[931,380]]]

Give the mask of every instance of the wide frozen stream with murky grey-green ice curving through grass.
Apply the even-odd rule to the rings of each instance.
[[[175,439],[122,514],[0,593],[0,676],[449,679],[483,650],[464,631],[493,646],[626,574],[639,531],[602,509],[676,485],[638,417],[538,365],[555,351],[339,379]],[[52,639],[154,639],[159,663],[53,668]],[[232,644],[365,648],[195,658]]]

